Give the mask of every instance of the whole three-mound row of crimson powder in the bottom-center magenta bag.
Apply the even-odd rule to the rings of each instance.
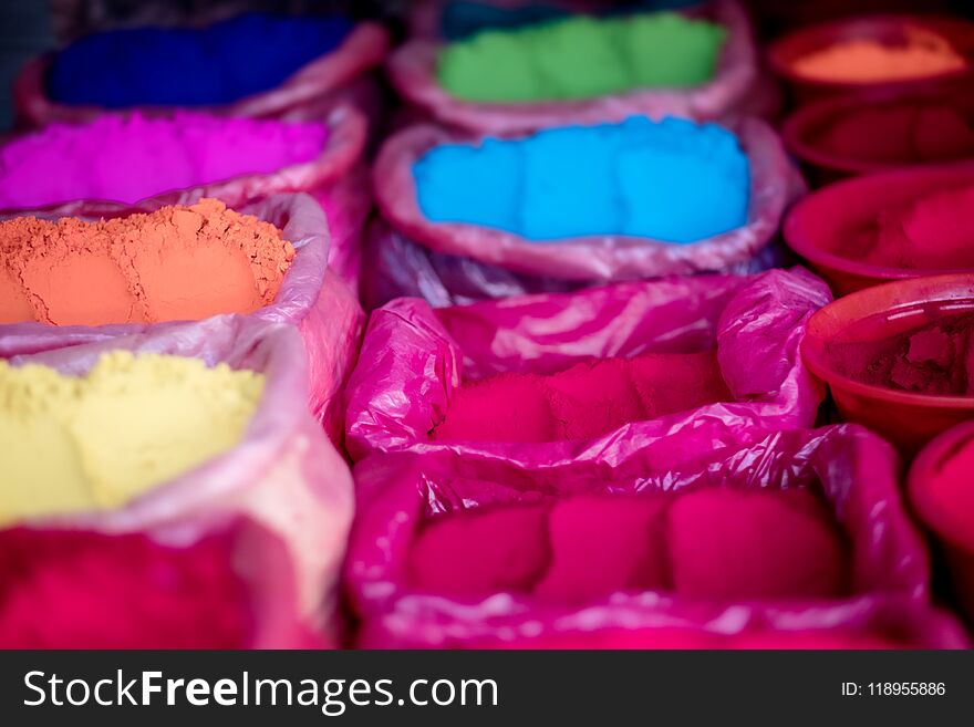
[[[688,599],[833,598],[848,547],[805,489],[580,495],[437,515],[417,532],[413,588],[581,603],[615,592]]]

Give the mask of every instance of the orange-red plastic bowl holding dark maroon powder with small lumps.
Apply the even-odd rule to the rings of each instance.
[[[869,427],[910,458],[942,432],[974,418],[974,397],[915,394],[864,384],[836,371],[827,345],[860,321],[883,316],[868,339],[880,340],[916,325],[910,310],[943,302],[949,312],[974,313],[974,273],[914,278],[861,290],[829,303],[808,321],[801,355],[809,371],[829,385],[839,414]]]

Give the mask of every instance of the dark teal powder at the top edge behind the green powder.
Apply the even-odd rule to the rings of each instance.
[[[650,10],[677,10],[700,4],[701,0],[626,0],[600,14],[612,15]],[[514,30],[550,20],[569,17],[563,8],[545,3],[528,3],[516,8],[499,8],[484,2],[454,0],[443,9],[441,32],[449,41],[464,40],[485,30]]]

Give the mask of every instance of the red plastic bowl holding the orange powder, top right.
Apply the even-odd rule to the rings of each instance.
[[[908,27],[930,30],[945,38],[961,55],[968,60],[965,69],[937,73],[920,79],[854,83],[850,81],[822,81],[801,75],[795,71],[798,59],[849,40],[875,40],[881,43],[902,43]],[[860,15],[810,25],[781,37],[768,48],[768,64],[785,82],[792,101],[806,104],[822,96],[861,93],[867,89],[944,89],[970,87],[974,79],[974,23],[946,15],[877,14]]]

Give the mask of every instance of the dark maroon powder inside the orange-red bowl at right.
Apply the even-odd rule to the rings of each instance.
[[[974,314],[930,318],[934,320],[887,337],[868,335],[884,325],[884,316],[867,319],[857,326],[866,340],[832,342],[826,356],[838,373],[863,384],[974,396]]]

